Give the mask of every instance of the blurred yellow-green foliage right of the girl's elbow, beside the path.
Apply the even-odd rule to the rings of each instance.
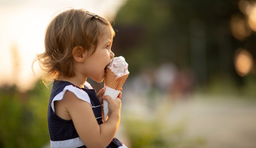
[[[123,120],[125,131],[132,148],[200,148],[206,143],[204,138],[185,138],[185,124],[168,124],[163,116],[139,118],[126,115]]]

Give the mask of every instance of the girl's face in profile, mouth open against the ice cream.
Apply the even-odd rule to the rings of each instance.
[[[112,42],[113,34],[111,28],[108,28],[99,37],[95,52],[84,61],[86,75],[97,82],[103,81],[104,69],[114,57],[114,53],[111,51]]]

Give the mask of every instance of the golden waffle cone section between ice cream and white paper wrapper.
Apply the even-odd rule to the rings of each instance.
[[[110,68],[107,67],[104,83],[106,86],[119,91],[121,87],[124,85],[124,82],[127,79],[128,75],[129,73],[126,75],[117,77],[117,75],[113,73]]]

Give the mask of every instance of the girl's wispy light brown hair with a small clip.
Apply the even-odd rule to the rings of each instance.
[[[47,26],[45,51],[37,54],[32,70],[34,63],[39,61],[40,68],[46,72],[42,78],[45,85],[59,76],[75,76],[72,49],[81,46],[88,54],[93,54],[98,37],[107,27],[111,28],[114,36],[115,32],[107,19],[95,17],[86,10],[71,9],[58,14]]]

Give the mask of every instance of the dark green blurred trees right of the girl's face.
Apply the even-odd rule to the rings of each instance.
[[[213,78],[243,78],[233,66],[234,51],[246,47],[255,59],[255,33],[244,41],[233,37],[232,14],[246,17],[238,0],[128,0],[120,8],[114,29],[116,55],[125,55],[131,75],[145,67],[172,61],[192,68],[197,84]]]

